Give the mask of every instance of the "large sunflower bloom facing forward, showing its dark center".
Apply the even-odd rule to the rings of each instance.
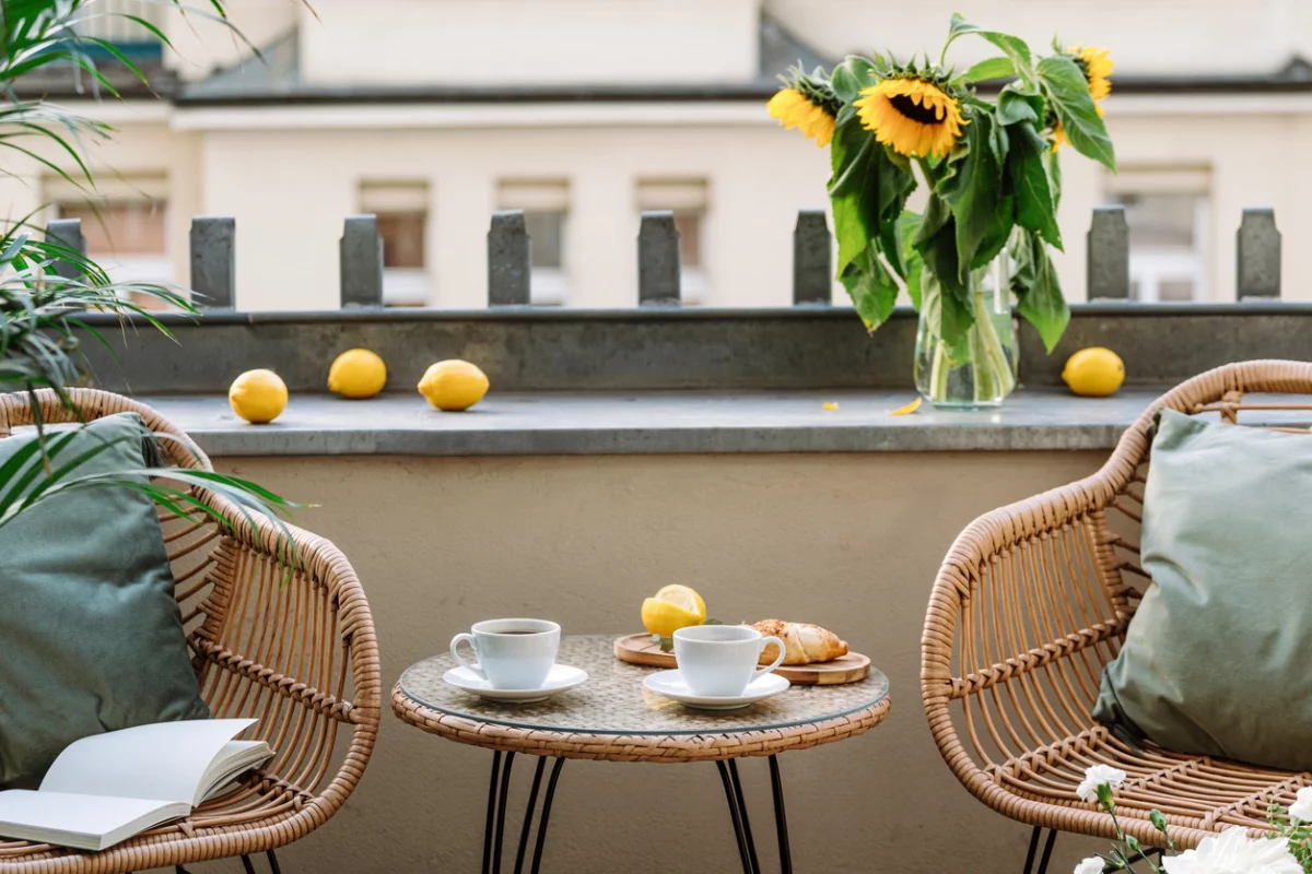
[[[863,89],[853,105],[876,140],[908,156],[946,156],[970,123],[945,84],[905,73]]]

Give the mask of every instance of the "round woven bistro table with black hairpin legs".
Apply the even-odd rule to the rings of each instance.
[[[555,759],[555,764],[538,818],[530,869],[534,874],[542,865],[551,802],[565,759],[714,761],[724,784],[743,871],[757,874],[761,866],[735,763],[743,756],[770,760],[779,865],[790,874],[792,858],[777,756],[851,738],[879,725],[891,705],[888,677],[871,668],[870,676],[858,683],[792,685],[741,710],[694,710],[646,689],[643,677],[659,668],[621,662],[614,654],[614,641],[615,636],[605,634],[563,638],[556,660],[585,670],[588,681],[537,704],[497,704],[447,684],[442,674],[455,667],[449,654],[411,666],[392,689],[392,710],[401,721],[493,753],[483,873],[501,870],[510,768],[516,755],[529,755],[538,760],[516,848],[516,874],[527,854],[547,759]]]

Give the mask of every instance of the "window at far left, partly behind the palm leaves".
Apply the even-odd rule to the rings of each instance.
[[[80,219],[87,256],[114,282],[174,282],[169,259],[168,177],[122,176],[97,182],[88,198],[62,177],[42,180],[42,194],[54,204],[52,219]],[[131,295],[144,307],[154,297]]]

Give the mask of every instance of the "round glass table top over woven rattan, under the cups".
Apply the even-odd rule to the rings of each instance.
[[[866,710],[888,694],[888,677],[871,667],[870,676],[842,685],[798,685],[741,710],[706,712],[686,708],[643,687],[661,668],[628,664],[615,658],[615,634],[564,637],[556,662],[580,667],[588,681],[537,704],[487,701],[446,683],[455,667],[450,654],[411,666],[400,691],[425,708],[476,722],[573,734],[698,735],[766,731],[825,722]]]

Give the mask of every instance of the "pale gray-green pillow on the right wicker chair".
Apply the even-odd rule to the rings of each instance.
[[[1312,435],[1157,418],[1152,583],[1094,717],[1179,752],[1312,768]]]

